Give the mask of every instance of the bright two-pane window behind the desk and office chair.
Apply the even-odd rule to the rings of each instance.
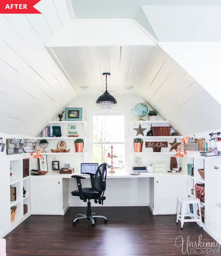
[[[94,114],[92,116],[92,161],[111,164],[111,145],[113,145],[113,166],[124,170],[125,167],[125,115]]]

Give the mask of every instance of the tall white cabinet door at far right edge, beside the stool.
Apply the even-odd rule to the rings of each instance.
[[[207,160],[205,170],[205,217],[208,231],[217,237],[219,204],[219,160]]]

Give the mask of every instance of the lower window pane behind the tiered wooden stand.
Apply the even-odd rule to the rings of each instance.
[[[120,167],[117,170],[123,170],[125,165],[125,144],[112,144],[113,154],[117,158],[113,158],[113,166]],[[107,158],[108,153],[111,154],[111,144],[93,144],[93,163],[102,164],[107,162],[111,164],[111,158]]]

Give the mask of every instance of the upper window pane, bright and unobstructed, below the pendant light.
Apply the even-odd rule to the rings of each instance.
[[[93,142],[124,142],[124,115],[93,116]]]

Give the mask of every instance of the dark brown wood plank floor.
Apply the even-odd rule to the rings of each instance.
[[[6,238],[7,256],[160,256],[188,255],[175,246],[177,236],[185,244],[202,240],[215,242],[194,223],[176,225],[175,215],[153,216],[148,207],[97,207],[97,214],[105,215],[108,224],[98,219],[80,220],[72,226],[73,216],[86,213],[86,208],[71,207],[64,216],[32,215],[9,233]],[[179,240],[180,241],[180,240]],[[220,255],[220,252],[191,255]]]

